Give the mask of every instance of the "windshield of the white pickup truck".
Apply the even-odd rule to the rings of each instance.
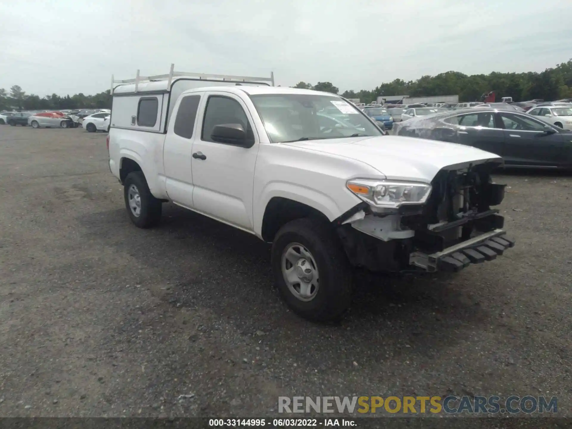
[[[250,97],[273,143],[383,135],[360,110],[340,97],[321,94]]]

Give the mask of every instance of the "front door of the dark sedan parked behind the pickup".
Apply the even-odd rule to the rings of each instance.
[[[500,112],[505,128],[506,164],[533,167],[557,167],[565,161],[564,141],[558,132],[546,133],[546,122],[533,117]]]

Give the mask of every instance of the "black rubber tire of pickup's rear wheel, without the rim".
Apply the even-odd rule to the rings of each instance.
[[[123,185],[125,208],[131,221],[139,228],[151,228],[157,225],[161,220],[162,203],[152,195],[145,180],[145,175],[140,171],[129,173]],[[140,196],[141,206],[138,216],[133,213],[129,205],[129,189],[132,185],[136,187]]]

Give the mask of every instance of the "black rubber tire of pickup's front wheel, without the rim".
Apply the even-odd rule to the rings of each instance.
[[[283,253],[293,243],[311,253],[319,272],[319,287],[309,301],[300,300],[291,292],[282,273]],[[305,319],[335,320],[351,304],[352,270],[339,238],[325,221],[296,219],[280,228],[272,243],[272,271],[281,297]]]

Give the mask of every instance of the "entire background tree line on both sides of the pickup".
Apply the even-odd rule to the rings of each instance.
[[[339,89],[331,82],[317,82],[316,85],[298,82],[292,88],[339,93]],[[468,76],[460,72],[445,72],[436,76],[422,76],[416,81],[395,79],[372,90],[347,90],[340,95],[346,98],[359,98],[364,103],[371,103],[379,96],[398,95],[410,97],[458,95],[459,101],[480,101],[482,94],[491,91],[495,91],[497,100],[501,100],[501,97],[513,97],[513,101],[572,98],[572,59],[541,73],[492,72]],[[0,110],[110,109],[112,96],[109,93],[108,89],[94,96],[80,93],[72,97],[69,94],[65,97],[57,94],[39,97],[35,94],[26,94],[22,88],[14,85],[9,92],[0,88]]]

